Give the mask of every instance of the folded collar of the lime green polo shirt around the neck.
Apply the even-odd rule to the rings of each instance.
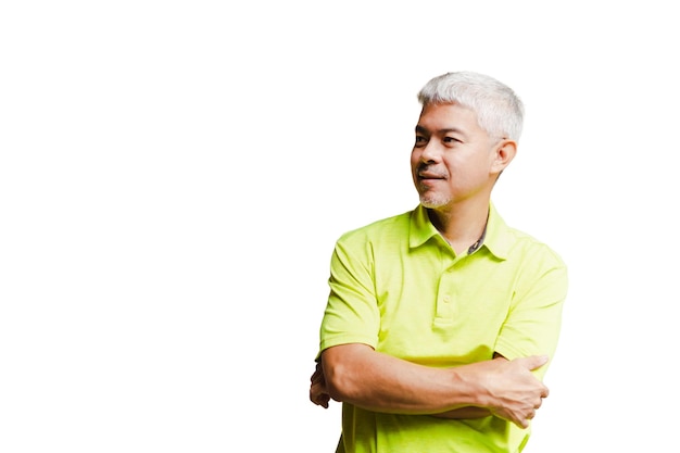
[[[408,246],[412,249],[418,248],[436,236],[441,237],[437,228],[435,228],[435,225],[430,222],[430,218],[427,215],[427,209],[421,204],[418,204],[418,206],[411,213]],[[490,203],[489,218],[487,221],[484,232],[481,237],[481,243],[478,244],[473,251],[479,250],[483,247],[496,257],[505,260],[508,255],[511,246],[512,237],[509,228],[499,215],[493,203]],[[470,248],[470,250],[471,249],[473,248]]]

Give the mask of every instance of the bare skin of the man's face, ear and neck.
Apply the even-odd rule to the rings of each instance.
[[[423,109],[411,153],[413,181],[430,221],[456,253],[481,236],[491,190],[516,152],[515,141],[490,137],[469,109]]]

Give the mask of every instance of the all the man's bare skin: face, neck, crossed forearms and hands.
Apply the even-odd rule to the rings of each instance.
[[[491,190],[516,153],[513,140],[492,137],[477,114],[457,104],[424,106],[411,154],[412,176],[430,221],[458,253],[481,236]],[[547,397],[531,370],[546,356],[431,368],[350,343],[323,351],[310,400],[342,401],[369,411],[446,418],[495,415],[521,428]]]

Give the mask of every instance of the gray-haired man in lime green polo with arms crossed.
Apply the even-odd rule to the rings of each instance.
[[[559,256],[491,202],[524,108],[468,72],[418,100],[420,203],[336,243],[310,399],[342,402],[338,452],[519,452],[567,290]]]

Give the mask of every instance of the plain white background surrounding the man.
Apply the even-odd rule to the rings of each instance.
[[[471,70],[527,110],[495,203],[570,267],[526,451],[671,451],[671,2],[241,3],[0,7],[0,450],[333,451],[332,244],[415,206],[416,92]]]

